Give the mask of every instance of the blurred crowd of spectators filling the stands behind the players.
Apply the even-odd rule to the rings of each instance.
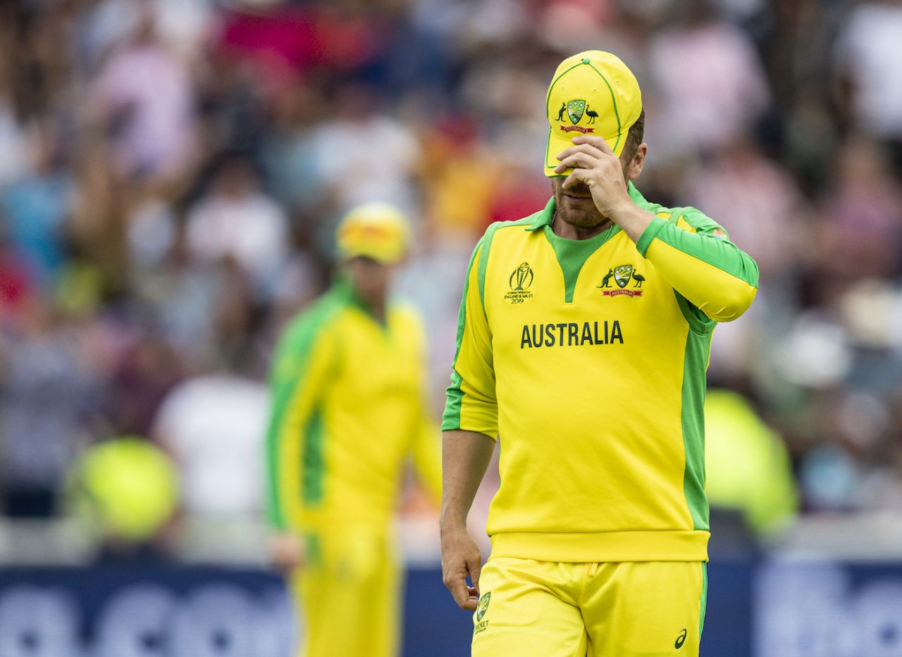
[[[548,80],[594,48],[640,80],[643,194],[759,262],[712,386],[803,512],[902,512],[900,41],[898,0],[0,0],[0,513],[130,436],[184,514],[256,516],[273,342],[363,201],[413,223],[438,414],[470,251],[545,205]]]

